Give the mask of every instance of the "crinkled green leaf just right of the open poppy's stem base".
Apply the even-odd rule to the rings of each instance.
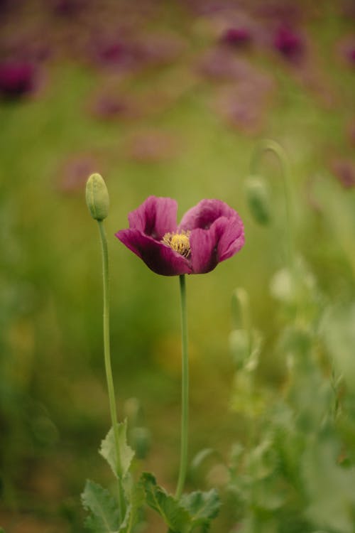
[[[180,504],[189,513],[192,528],[202,526],[204,531],[208,531],[209,522],[218,515],[221,500],[215,489],[211,489],[209,492],[198,490],[182,495]]]

